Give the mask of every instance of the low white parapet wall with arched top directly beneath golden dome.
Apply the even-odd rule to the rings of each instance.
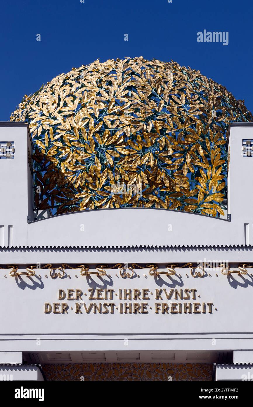
[[[162,247],[242,245],[229,221],[147,208],[94,210],[58,215],[28,224],[27,246]]]

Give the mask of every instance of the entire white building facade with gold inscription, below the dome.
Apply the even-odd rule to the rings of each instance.
[[[253,264],[253,158],[242,156],[244,139],[253,139],[253,124],[231,126],[227,219],[120,208],[35,221],[28,127],[1,123],[0,142],[15,150],[0,159],[0,363],[229,362],[242,380],[240,363],[253,363],[253,276],[238,269]],[[180,268],[205,262],[212,266],[204,271]],[[51,275],[41,269],[65,263],[71,268]],[[117,263],[130,269],[110,268]],[[222,274],[216,263],[238,273]],[[158,273],[174,264],[175,274],[152,276],[150,264]],[[7,268],[18,274],[32,265],[35,276]],[[84,276],[79,265],[109,267]],[[226,372],[217,365],[216,379]]]

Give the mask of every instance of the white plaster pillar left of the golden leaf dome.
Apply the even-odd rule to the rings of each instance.
[[[32,142],[27,125],[3,127],[1,124],[0,141],[15,145],[14,159],[0,160],[0,225],[4,246],[19,245],[27,239],[27,217],[33,219],[32,175],[28,165],[28,148],[32,151]]]

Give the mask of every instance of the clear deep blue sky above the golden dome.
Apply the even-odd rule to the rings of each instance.
[[[0,120],[9,120],[24,94],[73,66],[141,55],[200,70],[252,112],[252,13],[251,0],[2,2]],[[198,43],[204,29],[228,31],[229,44]]]

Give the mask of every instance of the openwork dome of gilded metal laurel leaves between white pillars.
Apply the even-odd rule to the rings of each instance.
[[[28,121],[36,142],[37,209],[219,216],[228,125],[253,116],[199,71],[139,57],[72,68],[25,95],[11,120]]]

